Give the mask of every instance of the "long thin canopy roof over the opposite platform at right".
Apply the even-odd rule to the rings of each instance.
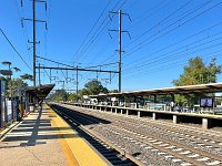
[[[163,89],[151,89],[141,91],[130,91],[121,93],[108,93],[90,95],[90,97],[118,97],[118,96],[141,96],[141,95],[165,95],[165,94],[196,94],[196,93],[216,93],[222,92],[222,83],[198,84],[186,86],[174,86]]]

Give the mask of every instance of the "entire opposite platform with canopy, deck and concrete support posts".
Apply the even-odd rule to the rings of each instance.
[[[211,83],[90,95],[97,102],[88,98],[85,103],[69,104],[121,115],[151,117],[154,121],[172,120],[174,124],[201,124],[206,129],[222,127],[221,92],[222,83]],[[192,95],[193,106],[179,105],[175,95]]]

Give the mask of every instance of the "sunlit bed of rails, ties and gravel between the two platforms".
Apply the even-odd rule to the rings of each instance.
[[[73,108],[73,106],[65,106],[67,108]],[[75,110],[79,108],[75,107]],[[69,110],[69,112],[73,111]],[[91,114],[94,117],[83,116],[80,114],[80,112]],[[163,125],[157,126],[155,123],[145,124],[148,123],[147,121],[140,121],[140,123],[138,123],[138,120],[135,118],[120,118],[120,116],[114,116],[111,114],[99,114],[95,111],[89,112],[89,110],[85,111],[85,108],[81,108],[81,111],[79,110],[74,113],[83,122],[91,121],[94,124],[100,124],[101,122],[97,120],[98,117],[111,121],[111,124],[98,125],[99,127],[95,129],[97,134],[101,135],[100,129],[102,129],[107,135],[112,133],[112,136],[110,137],[117,137],[121,145],[118,144],[119,142],[113,142],[111,138],[110,142],[115,144],[115,146],[119,146],[119,148],[124,149],[127,153],[133,154],[132,152],[129,152],[127,144],[139,148],[139,151],[142,152],[142,155],[137,155],[135,159],[140,160],[144,165],[153,164],[149,163],[148,158],[144,158],[145,155],[149,156],[150,154],[152,154],[152,156],[159,156],[157,157],[158,159],[164,158],[162,164],[169,163],[170,165],[182,166],[222,165],[221,152],[216,151],[222,149],[221,142],[214,139],[215,137],[210,137],[210,135],[205,133],[198,135],[198,132],[193,127],[191,129],[191,131],[189,131],[190,128],[180,131],[175,126],[169,126],[169,124],[164,125],[163,127]],[[125,123],[125,120],[128,123]],[[91,126],[91,129],[92,128],[97,128],[97,126]],[[216,136],[216,138],[219,137]],[[186,145],[186,142],[190,142],[190,144]],[[138,154],[140,153],[139,151]]]

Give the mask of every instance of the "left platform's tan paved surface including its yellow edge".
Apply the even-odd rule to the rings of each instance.
[[[47,105],[1,137],[0,163],[1,166],[110,165]]]

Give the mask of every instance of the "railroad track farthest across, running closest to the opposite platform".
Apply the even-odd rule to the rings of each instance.
[[[97,115],[97,113],[94,114]],[[113,121],[120,121],[119,117],[113,116],[114,114],[105,115],[103,118],[112,118]],[[119,115],[118,115],[119,116]],[[128,123],[138,123],[138,118],[134,117],[129,117],[128,116]],[[205,146],[205,151],[208,148],[215,148],[218,153],[218,147],[222,147],[222,133],[218,133],[218,135],[213,133],[206,133],[206,132],[201,132],[200,129],[196,131],[196,128],[191,127],[191,128],[184,128],[184,125],[172,125],[172,123],[164,123],[164,122],[155,122],[155,121],[143,121],[140,118],[140,124],[138,127],[145,127],[149,129],[152,129],[154,132],[161,131],[162,133],[165,134],[173,134],[179,137],[179,141],[184,141],[189,139],[194,144],[195,146],[200,146],[203,148]],[[173,136],[172,135],[172,136]]]

